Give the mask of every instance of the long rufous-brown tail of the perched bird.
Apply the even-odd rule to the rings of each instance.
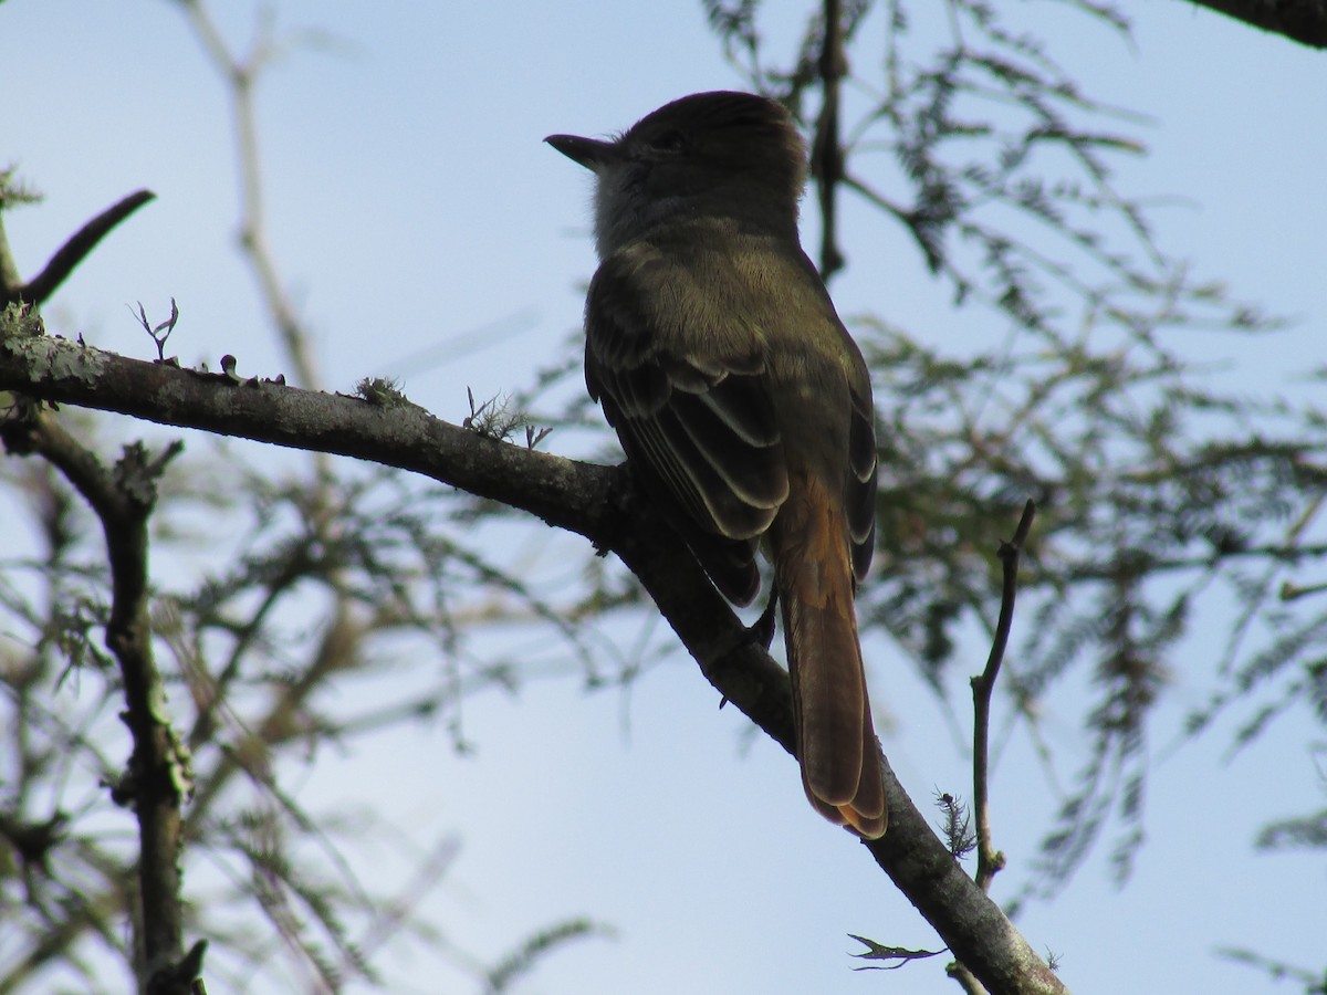
[[[884,836],[888,812],[857,641],[843,500],[813,476],[796,476],[771,540],[802,784],[825,819],[873,840]]]

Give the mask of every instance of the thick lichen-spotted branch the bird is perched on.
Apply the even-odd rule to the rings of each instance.
[[[711,685],[792,752],[788,678],[621,468],[506,444],[413,405],[381,407],[272,381],[126,360],[49,337],[0,341],[0,390],[163,425],[318,450],[414,471],[527,511],[617,553]],[[950,950],[991,991],[1062,992],[882,765],[889,832],[867,844]],[[849,838],[849,837],[844,837]]]

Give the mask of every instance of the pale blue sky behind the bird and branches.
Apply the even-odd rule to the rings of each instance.
[[[1320,364],[1322,56],[1180,0],[1133,5],[1132,42],[1084,29],[1063,5],[1028,9],[1044,16],[1070,74],[1153,118],[1143,127],[1152,154],[1120,172],[1131,192],[1182,198],[1156,215],[1162,244],[1298,322],[1255,350],[1186,333],[1192,346],[1205,357],[1229,346],[1250,391]],[[224,13],[232,41],[249,36],[249,4]],[[698,3],[291,3],[276,17],[281,29],[312,25],[332,38],[288,53],[259,97],[273,249],[316,330],[326,383],[348,391],[365,374],[399,374],[413,401],[449,421],[466,414],[466,387],[488,397],[525,385],[580,320],[577,288],[594,265],[588,178],[541,138],[609,133],[681,94],[742,85]],[[171,346],[183,360],[234,353],[245,375],[281,371],[234,244],[226,94],[174,5],[8,0],[0,40],[0,154],[46,195],[7,219],[25,273],[126,192],[159,196],[77,272],[53,321],[146,358],[150,344],[125,305],[165,316],[174,296],[183,322]],[[947,325],[978,320],[949,312],[947,291],[906,239],[860,211],[845,224],[857,255],[832,288],[840,310],[936,329],[937,344]],[[863,264],[871,253],[889,264]],[[503,332],[490,348],[401,369],[491,322]],[[557,439],[548,447],[559,451]],[[1169,690],[1174,715],[1202,700],[1217,651],[1201,639],[1186,649]],[[962,793],[966,762],[947,720],[901,662],[890,666],[892,653],[882,641],[867,647],[874,698],[890,715],[885,750],[918,803],[937,788]],[[965,715],[961,681],[954,694]],[[1085,756],[1072,715],[1046,722],[1064,771]],[[909,947],[934,947],[934,934],[865,852],[807,811],[792,762],[747,743],[742,718],[717,710],[686,661],[653,669],[625,695],[563,681],[483,696],[464,722],[472,756],[453,755],[442,732],[405,732],[329,751],[303,791],[314,804],[354,796],[418,840],[456,833],[459,857],[430,910],[459,947],[496,957],[575,914],[614,927],[616,939],[555,954],[519,991],[955,990],[940,959],[849,970],[848,933]],[[1216,958],[1218,945],[1320,966],[1322,860],[1251,850],[1267,819],[1322,804],[1304,750],[1312,728],[1291,714],[1230,762],[1225,734],[1158,764],[1149,840],[1127,888],[1109,884],[1099,854],[1063,897],[1020,919],[1080,995],[1273,990]],[[997,842],[1014,865],[997,881],[1001,898],[1054,800],[1018,742],[994,791]],[[382,850],[374,873],[403,874],[386,841]],[[467,990],[438,970],[418,947],[402,950],[390,988],[438,991],[442,976]],[[226,987],[210,980],[210,991]]]

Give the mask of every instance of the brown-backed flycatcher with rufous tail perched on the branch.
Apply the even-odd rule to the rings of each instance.
[[[853,610],[874,544],[871,379],[798,239],[802,137],[764,97],[698,93],[616,141],[545,141],[597,180],[591,397],[729,600],[759,592],[764,544],[807,797],[876,838],[888,813]]]

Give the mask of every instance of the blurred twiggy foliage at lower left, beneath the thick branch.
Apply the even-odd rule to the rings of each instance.
[[[86,442],[102,442],[85,427]],[[395,830],[353,804],[309,812],[277,772],[289,776],[321,751],[402,722],[442,723],[464,748],[466,696],[533,677],[527,654],[470,649],[486,618],[525,612],[563,633],[572,650],[563,655],[585,659],[589,650],[523,580],[458,537],[442,495],[389,472],[346,472],[311,488],[300,474],[232,460],[220,448],[180,468],[157,520],[161,564],[196,560],[203,529],[216,521],[232,529],[208,533],[224,555],[195,568],[192,586],[158,582],[153,608],[171,711],[192,758],[186,923],[212,941],[208,975],[236,990],[257,970],[336,988],[346,976],[372,978],[374,950],[401,930],[446,949],[409,910],[443,880],[458,841],[427,844],[401,890],[358,880],[342,852]],[[25,950],[19,962],[7,958],[8,991],[42,976],[48,961],[85,970],[98,945],[133,959],[115,923],[137,848],[104,813],[105,785],[123,776],[126,738],[115,720],[122,681],[102,649],[109,594],[97,523],[48,464],[11,460],[5,484],[24,495],[40,537],[31,555],[0,564],[0,907],[7,947]],[[417,659],[437,663],[394,698],[337,704],[348,689]],[[463,951],[451,957],[470,970]]]

